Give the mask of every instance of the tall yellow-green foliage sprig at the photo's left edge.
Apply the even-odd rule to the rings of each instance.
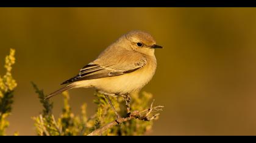
[[[9,126],[6,118],[10,115],[13,104],[13,90],[16,81],[12,77],[12,65],[15,64],[15,50],[10,49],[10,55],[5,57],[6,73],[0,76],[0,136],[5,135],[5,130]]]

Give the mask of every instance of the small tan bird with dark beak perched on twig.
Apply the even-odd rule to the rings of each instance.
[[[105,95],[112,108],[108,96],[123,96],[127,113],[130,113],[130,93],[139,91],[155,73],[155,48],[162,47],[156,45],[149,33],[139,30],[129,32],[107,47],[97,59],[80,69],[78,75],[63,82],[67,84],[65,87],[51,93],[46,99],[71,88],[94,87]],[[119,117],[115,108],[113,110]]]

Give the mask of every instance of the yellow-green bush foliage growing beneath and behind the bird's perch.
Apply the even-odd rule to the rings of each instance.
[[[33,85],[35,91],[40,94],[38,97],[44,107],[43,113],[48,109],[50,109],[48,113],[51,113],[52,104],[50,104],[48,100],[43,101],[42,99],[45,97],[43,91],[38,90],[35,84]],[[105,99],[105,96],[100,93],[96,93],[95,96],[96,99],[94,100],[94,104],[97,105],[96,113],[88,118],[86,112],[87,104],[81,106],[80,115],[74,115],[68,103],[68,92],[63,92],[64,107],[62,109],[62,115],[60,115],[57,120],[55,120],[54,115],[44,115],[43,113],[33,118],[35,127],[37,127],[37,135],[88,135],[91,131],[101,128],[109,122],[115,121],[116,115],[108,104],[107,99]],[[151,98],[152,95],[146,92],[142,95],[132,95],[133,110],[143,110],[144,108],[148,108],[148,102]],[[110,99],[120,115],[126,116],[124,99],[121,97],[110,97]],[[46,104],[46,102],[48,103]],[[120,125],[116,125],[113,128],[108,128],[102,135],[144,135],[145,133],[148,133],[151,128],[152,121],[148,122],[132,119],[123,122]]]

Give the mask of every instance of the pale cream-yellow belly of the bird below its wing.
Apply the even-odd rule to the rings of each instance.
[[[107,93],[130,93],[140,90],[146,85],[155,73],[155,68],[145,66],[140,70],[120,76],[94,79],[93,87]],[[97,81],[96,81],[97,80]]]

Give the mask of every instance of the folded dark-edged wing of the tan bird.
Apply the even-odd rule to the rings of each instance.
[[[68,84],[70,82],[82,81],[87,79],[98,79],[98,78],[106,78],[111,76],[119,76],[124,75],[126,73],[131,73],[135,70],[138,70],[146,65],[146,58],[143,56],[137,62],[128,63],[108,63],[110,65],[97,64],[91,62],[88,65],[85,65],[78,75],[74,76],[71,79],[63,82],[62,84]]]

